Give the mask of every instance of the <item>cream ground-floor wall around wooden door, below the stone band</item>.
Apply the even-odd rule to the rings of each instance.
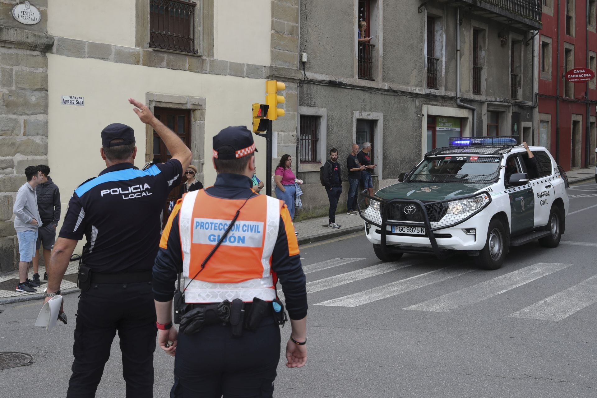
[[[144,101],[146,92],[206,98],[204,185],[216,180],[211,163],[212,138],[229,125],[252,122],[251,104],[263,97],[264,81],[233,76],[118,64],[91,58],[69,58],[48,53],[48,163],[60,187],[63,209],[73,190],[106,167],[100,157],[101,130],[110,123],[124,123],[135,130],[135,165],[144,165],[145,126],[128,103]],[[85,106],[61,105],[61,95],[85,97]],[[266,165],[266,146],[255,137],[258,177]],[[270,177],[271,178],[271,177]],[[63,213],[64,214],[64,213]]]

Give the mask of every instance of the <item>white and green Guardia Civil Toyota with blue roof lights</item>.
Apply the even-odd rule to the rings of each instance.
[[[564,169],[544,147],[525,149],[514,137],[450,138],[450,147],[426,153],[399,181],[359,202],[383,261],[466,252],[494,270],[510,246],[538,239],[555,247],[565,230]]]

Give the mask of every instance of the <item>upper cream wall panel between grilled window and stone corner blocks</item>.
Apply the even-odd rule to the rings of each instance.
[[[214,1],[216,59],[269,65],[271,9],[270,0]]]

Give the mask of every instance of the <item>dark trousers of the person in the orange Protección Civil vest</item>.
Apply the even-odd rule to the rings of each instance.
[[[229,325],[179,334],[171,398],[270,398],[280,360],[280,328],[264,319],[232,337]]]

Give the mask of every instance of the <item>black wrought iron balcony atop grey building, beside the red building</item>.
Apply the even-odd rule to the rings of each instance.
[[[543,0],[439,0],[523,30],[539,30]]]

